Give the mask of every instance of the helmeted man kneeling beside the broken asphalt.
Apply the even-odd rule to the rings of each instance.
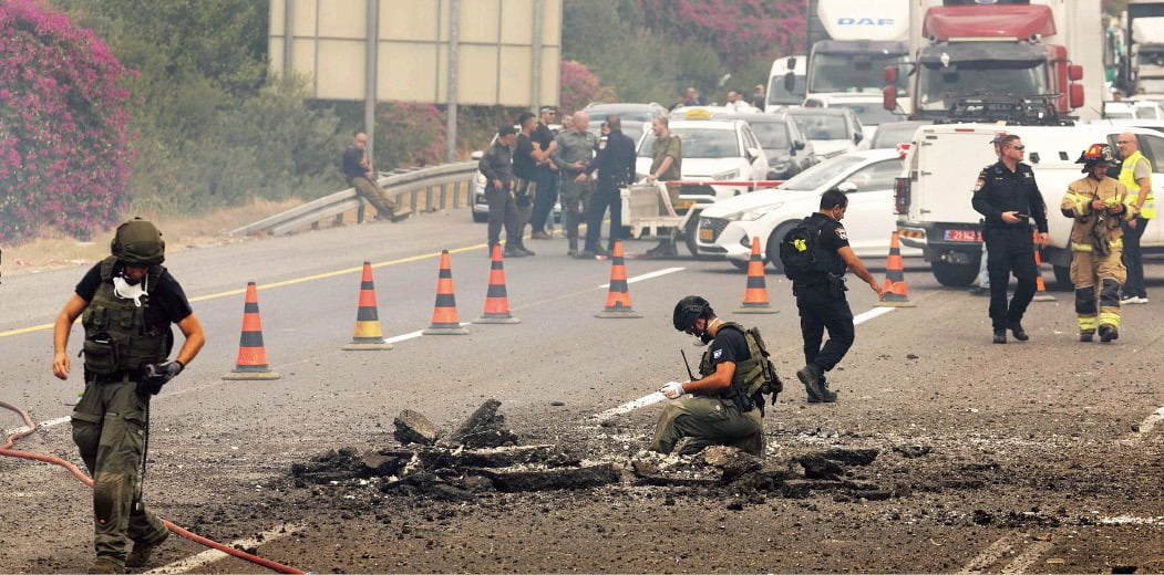
[[[676,330],[711,345],[700,361],[702,379],[672,381],[659,390],[672,401],[659,417],[648,448],[670,453],[680,439],[688,438],[683,453],[730,445],[762,455],[764,394],[772,394],[775,403],[781,387],[760,332],[724,323],[696,295],[679,301],[673,322]]]

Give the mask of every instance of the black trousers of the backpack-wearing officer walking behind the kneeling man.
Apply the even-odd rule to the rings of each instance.
[[[801,336],[804,338],[804,364],[816,364],[823,372],[832,369],[853,346],[853,311],[844,292],[840,297],[828,285],[796,288],[796,309],[801,316]],[[829,340],[821,345],[824,331]]]

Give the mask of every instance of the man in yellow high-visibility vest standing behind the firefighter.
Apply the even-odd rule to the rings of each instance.
[[[1123,285],[1121,303],[1148,303],[1148,290],[1144,289],[1144,260],[1140,252],[1140,238],[1148,228],[1148,222],[1156,217],[1156,199],[1152,197],[1152,164],[1143,153],[1135,134],[1121,134],[1116,137],[1120,146],[1120,158],[1123,167],[1120,170],[1120,184],[1128,187],[1128,203],[1136,207],[1136,216],[1121,221],[1123,228],[1123,265],[1128,268],[1128,282]]]

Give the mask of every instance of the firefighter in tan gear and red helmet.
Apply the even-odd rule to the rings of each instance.
[[[1071,281],[1076,285],[1079,340],[1091,342],[1098,328],[1100,342],[1112,342],[1120,337],[1120,288],[1127,279],[1120,222],[1136,217],[1136,200],[1129,199],[1123,182],[1107,175],[1107,170],[1119,164],[1112,146],[1092,144],[1076,164],[1083,164],[1087,175],[1067,186],[1059,209],[1074,220]]]

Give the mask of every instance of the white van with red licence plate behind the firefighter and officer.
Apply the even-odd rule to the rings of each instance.
[[[968,286],[978,275],[982,253],[981,215],[971,207],[979,172],[995,163],[991,141],[998,131],[1014,134],[1027,146],[1027,164],[1035,170],[1038,189],[1046,202],[1050,244],[1043,261],[1053,266],[1055,279],[1070,285],[1071,220],[1059,211],[1067,185],[1083,178],[1079,154],[1094,143],[1106,142],[1117,150],[1116,136],[1129,131],[1156,172],[1152,187],[1164,195],[1164,134],[1128,125],[1084,124],[1072,127],[996,124],[942,124],[918,128],[906,167],[894,191],[894,209],[901,243],[923,251],[934,275],[944,286]],[[1114,174],[1114,172],[1113,172]],[[1145,252],[1164,249],[1164,231],[1149,225],[1142,239]]]

